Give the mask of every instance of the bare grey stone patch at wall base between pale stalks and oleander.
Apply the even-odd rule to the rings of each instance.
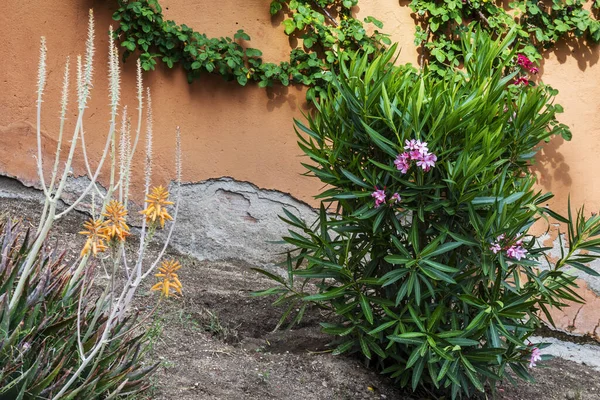
[[[316,218],[310,206],[289,194],[249,182],[221,178],[185,184],[172,244],[200,260],[269,265],[285,250],[280,242],[288,225],[278,218],[284,208],[307,222]]]

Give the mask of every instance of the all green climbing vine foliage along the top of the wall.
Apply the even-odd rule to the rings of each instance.
[[[390,44],[379,31],[383,24],[373,17],[363,21],[353,16],[358,0],[272,0],[272,15],[283,13],[285,33],[299,40],[289,60],[264,62],[262,52],[247,46],[250,36],[242,29],[233,37],[209,38],[187,25],[165,20],[158,0],[117,0],[113,18],[123,46],[124,60],[139,52],[145,70],[158,61],[169,68],[180,64],[189,82],[203,73],[235,80],[244,86],[260,87],[303,84],[308,98],[318,97],[336,68],[338,58],[349,51],[375,54]],[[412,0],[417,21],[415,44],[421,47],[420,64],[444,76],[463,60],[459,38],[473,23],[479,29],[504,35],[514,30],[520,53],[537,62],[544,49],[562,38],[583,38],[600,42],[598,11],[600,0],[586,8],[581,0],[517,0],[509,3],[491,0]],[[370,27],[369,27],[370,25]],[[515,64],[517,60],[515,60]],[[537,71],[537,70],[536,70]]]

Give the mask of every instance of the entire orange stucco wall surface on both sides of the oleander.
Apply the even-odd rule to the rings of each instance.
[[[269,15],[270,0],[218,3],[200,0],[161,0],[167,18],[185,23],[209,36],[232,35],[243,28],[250,45],[264,52],[267,61],[287,59],[290,39]],[[60,85],[64,60],[84,52],[87,13],[94,8],[97,24],[95,86],[86,114],[89,153],[97,160],[108,128],[106,79],[107,31],[113,2],[109,0],[5,0],[0,13],[0,173],[29,183],[36,181],[35,91],[39,37],[48,39],[49,79],[45,92],[42,129],[45,165],[54,154],[58,133]],[[359,16],[373,15],[384,22],[384,31],[400,43],[400,61],[417,63],[414,20],[405,1],[362,0]],[[554,192],[555,208],[565,209],[571,194],[574,205],[585,203],[597,211],[600,202],[600,50],[583,41],[560,43],[545,55],[542,79],[560,90],[565,106],[561,121],[574,133],[571,142],[556,139],[544,146],[534,168],[540,186]],[[72,64],[74,67],[74,64]],[[316,180],[301,176],[300,152],[293,118],[306,111],[301,87],[260,89],[240,87],[219,77],[206,76],[189,85],[179,68],[159,65],[144,74],[152,89],[155,116],[155,182],[173,176],[174,133],[183,134],[185,181],[231,176],[261,188],[289,192],[314,204],[320,188]],[[124,65],[122,103],[136,107],[135,71],[131,59]],[[71,101],[75,101],[72,91]],[[69,114],[73,123],[75,111]],[[141,161],[141,157],[139,158]],[[93,162],[95,164],[95,161]],[[138,165],[141,165],[138,164]],[[82,173],[81,160],[75,173]],[[142,168],[136,174],[141,181]],[[590,320],[590,325],[593,321]]]

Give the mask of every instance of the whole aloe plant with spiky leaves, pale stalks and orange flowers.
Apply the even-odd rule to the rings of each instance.
[[[109,29],[112,32],[112,28]],[[22,232],[18,225],[3,222],[0,242],[0,398],[2,399],[96,399],[114,398],[137,393],[147,384],[144,378],[156,365],[144,366],[142,356],[147,347],[144,327],[132,314],[131,304],[142,282],[155,271],[163,258],[177,219],[179,202],[169,201],[169,191],[152,190],[152,109],[150,89],[144,87],[141,66],[137,69],[137,128],[132,134],[127,106],[120,104],[120,66],[118,50],[109,35],[109,99],[110,122],[104,150],[95,168],[87,157],[85,145],[85,111],[93,88],[95,53],[94,17],[90,10],[85,61],[77,57],[77,118],[68,140],[65,119],[69,115],[71,63],[67,59],[61,97],[60,128],[53,167],[49,179],[45,176],[41,108],[48,78],[46,41],[42,37],[38,66],[37,100],[37,170],[44,193],[44,205],[35,234]],[[132,160],[141,136],[142,115],[146,114],[146,157],[143,214],[140,246],[135,260],[127,264],[125,246],[131,235],[127,225],[129,187]],[[117,129],[117,115],[121,129]],[[176,187],[181,183],[181,141],[176,130]],[[117,140],[117,137],[119,140]],[[68,143],[65,145],[65,143]],[[89,178],[86,188],[64,210],[58,209],[64,188],[69,180],[77,148],[81,146],[84,174]],[[117,154],[117,147],[118,153]],[[66,162],[61,153],[68,148]],[[98,177],[104,161],[107,169],[106,191],[98,187]],[[62,167],[62,168],[61,168]],[[153,194],[157,194],[158,197]],[[179,194],[179,191],[177,191]],[[56,227],[54,223],[81,207],[92,197],[91,218],[83,224],[87,239],[73,265],[66,265],[58,249],[48,245],[47,238]],[[174,204],[173,216],[166,207]],[[98,205],[98,207],[96,207]],[[146,249],[156,229],[168,221],[166,240],[158,256],[146,264]],[[52,249],[52,250],[50,250]],[[110,250],[110,251],[109,251]],[[96,265],[110,265],[110,279],[105,284],[95,282]],[[163,261],[162,265],[167,261]],[[169,261],[172,265],[174,261]],[[174,265],[174,264],[173,264]],[[165,285],[181,293],[182,285],[172,267],[163,274]],[[161,274],[159,274],[161,275]],[[119,279],[119,277],[124,279]],[[174,285],[174,286],[173,286]],[[100,287],[102,294],[93,295]],[[156,288],[156,285],[155,285]],[[172,292],[164,291],[164,296]]]

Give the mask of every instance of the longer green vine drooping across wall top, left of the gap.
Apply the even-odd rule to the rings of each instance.
[[[310,87],[307,97],[313,98],[326,87],[336,54],[346,50],[375,53],[390,43],[377,29],[368,34],[363,23],[352,18],[350,9],[357,1],[273,1],[271,13],[290,15],[284,21],[285,32],[303,42],[291,51],[289,61],[279,64],[263,62],[260,50],[243,46],[250,36],[241,29],[233,38],[209,38],[185,24],[165,20],[157,0],[118,0],[113,18],[120,23],[115,34],[125,48],[123,59],[139,51],[145,70],[153,70],[160,60],[169,68],[180,64],[190,83],[207,72],[242,86],[251,81],[260,87],[299,83]],[[382,26],[372,17],[365,22]]]

